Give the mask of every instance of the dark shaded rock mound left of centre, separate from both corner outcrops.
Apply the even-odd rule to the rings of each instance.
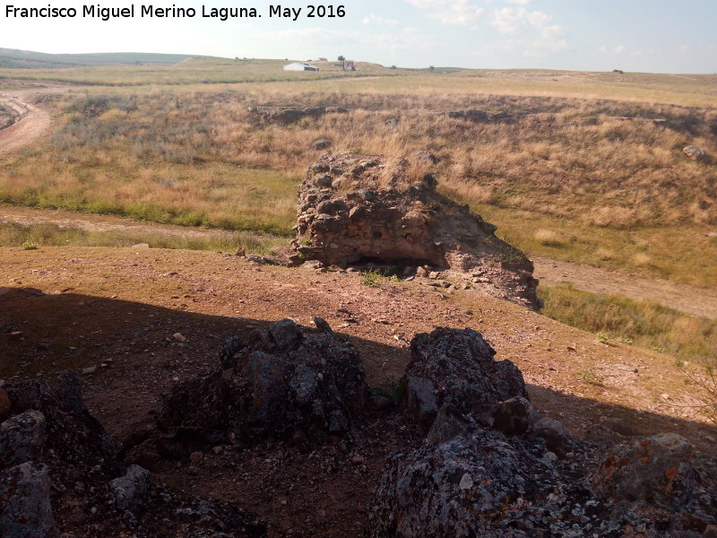
[[[315,323],[313,330],[282,319],[246,344],[229,338],[221,369],[179,383],[165,398],[160,429],[180,444],[204,439],[205,448],[270,438],[304,447],[350,435],[367,392],[363,366],[347,340],[324,320]],[[185,455],[199,448],[187,447]],[[171,439],[162,450],[182,456]]]

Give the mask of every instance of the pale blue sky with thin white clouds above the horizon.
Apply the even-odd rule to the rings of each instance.
[[[311,0],[309,0],[310,2]],[[134,18],[82,17],[83,5]],[[194,8],[194,18],[141,17],[142,6]],[[307,60],[339,55],[399,67],[622,69],[717,73],[717,0],[338,0],[343,17],[308,17],[307,3],[237,0],[0,1],[0,47],[47,53],[160,52]],[[314,4],[318,5],[318,4]],[[75,8],[75,18],[8,9]],[[298,18],[270,17],[270,6]],[[261,17],[204,17],[212,8]]]

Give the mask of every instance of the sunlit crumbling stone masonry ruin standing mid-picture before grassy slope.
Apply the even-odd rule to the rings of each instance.
[[[428,152],[395,162],[324,154],[298,188],[291,261],[448,272],[484,282],[499,297],[535,304],[531,261],[467,205],[440,195],[432,165]]]

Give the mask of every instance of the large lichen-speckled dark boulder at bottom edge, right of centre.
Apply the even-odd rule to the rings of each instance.
[[[368,504],[367,536],[545,535],[529,532],[530,517],[538,518],[532,515],[540,505],[549,508],[561,484],[554,464],[540,457],[544,451],[539,440],[476,430],[471,437],[393,456]]]

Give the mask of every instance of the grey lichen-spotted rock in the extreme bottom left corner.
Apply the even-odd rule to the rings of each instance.
[[[0,473],[0,536],[56,538],[46,465],[26,462]]]

